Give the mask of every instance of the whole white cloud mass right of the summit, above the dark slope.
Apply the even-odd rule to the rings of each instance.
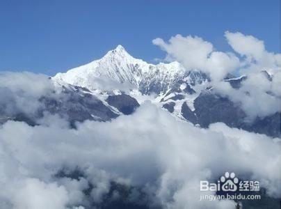
[[[167,59],[179,61],[188,70],[206,72],[214,90],[241,104],[250,120],[281,111],[281,54],[267,52],[264,42],[253,36],[227,31],[225,38],[234,52],[218,52],[211,42],[197,36],[177,35],[168,42],[161,38],[152,42],[167,52]],[[228,73],[248,79],[241,88],[233,89],[223,82]]]

